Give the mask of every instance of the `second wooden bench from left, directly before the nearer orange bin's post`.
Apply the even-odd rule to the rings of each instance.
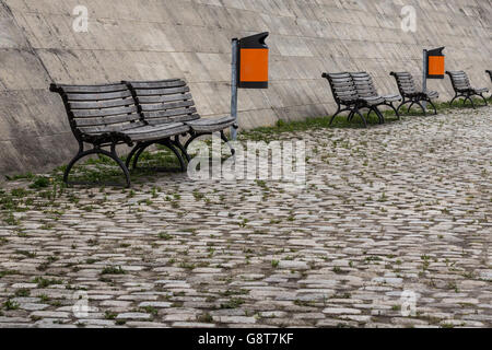
[[[190,159],[187,152],[189,144],[195,139],[213,132],[220,132],[222,140],[230,145],[231,152],[234,154],[235,151],[224,133],[224,130],[231,126],[237,128],[234,117],[200,118],[189,86],[184,80],[125,81],[124,83],[132,92],[141,116],[147,124],[163,127],[174,122],[183,122],[189,128],[187,130],[189,138],[185,145],[179,141],[179,136],[175,136],[173,140],[188,161]],[[153,143],[152,140],[138,142],[127,158],[127,166],[133,160],[133,167],[136,167],[140,154]]]

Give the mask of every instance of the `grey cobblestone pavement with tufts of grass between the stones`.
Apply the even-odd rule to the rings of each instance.
[[[15,212],[0,326],[492,326],[491,107],[279,137],[304,190],[163,174]]]

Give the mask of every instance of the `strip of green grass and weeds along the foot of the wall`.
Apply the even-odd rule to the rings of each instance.
[[[479,98],[475,98],[473,102],[476,105],[481,106],[483,103]],[[489,98],[489,102],[492,103],[492,97]],[[457,108],[471,108],[470,104],[466,106],[462,105],[460,101],[455,101],[453,105],[448,103],[436,103],[435,104],[437,113],[446,113],[450,109]],[[409,113],[405,113],[406,108],[402,108],[402,116],[422,116],[420,109],[411,109]],[[395,116],[394,110],[382,110],[386,124],[398,121]],[[431,110],[427,114],[429,117],[432,116]],[[364,117],[367,119],[368,126],[376,125],[378,119],[373,113],[370,117],[367,114],[364,114]],[[360,129],[363,128],[364,125],[359,117],[355,117],[353,120],[347,120],[347,116],[337,116],[333,120],[332,125],[329,125],[331,116],[327,117],[317,117],[317,118],[308,118],[305,120],[298,121],[284,121],[279,120],[273,127],[260,127],[249,131],[243,131],[239,135],[239,141],[246,140],[255,140],[255,141],[271,141],[276,139],[278,135],[286,133],[286,132],[297,132],[305,131],[312,129],[337,129],[337,128],[353,128]],[[176,156],[165,147],[156,145],[156,150],[159,152],[149,152],[145,151],[141,154],[139,160],[139,168],[130,172],[130,178],[132,183],[143,184],[150,178],[155,178],[160,176],[156,168],[164,168],[168,172],[179,172],[179,162]],[[122,161],[126,161],[126,156],[121,156]],[[62,174],[66,170],[67,165],[57,167],[48,176],[38,176],[33,173],[19,174],[5,176],[8,182],[19,182],[26,180],[31,184],[28,185],[30,189],[34,189],[37,191],[38,196],[49,200],[55,200],[57,197],[63,194],[63,188],[66,185],[62,182]],[[93,184],[118,184],[121,183],[122,173],[119,167],[115,165],[115,162],[106,156],[95,156],[92,159],[82,162],[72,170],[70,175],[70,180],[72,182],[81,182],[81,183],[93,183]],[[104,185],[103,185],[104,186]],[[43,190],[50,188],[50,190]],[[12,225],[16,224],[16,220],[13,217],[13,212],[15,211],[25,211],[27,207],[33,203],[34,198],[27,197],[26,200],[15,200],[14,198],[24,198],[28,195],[33,195],[33,191],[25,191],[24,189],[14,189],[11,195],[5,194],[2,189],[0,189],[0,209],[2,211],[7,210],[7,214],[3,214],[3,220]]]

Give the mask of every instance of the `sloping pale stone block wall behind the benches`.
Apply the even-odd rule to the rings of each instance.
[[[77,5],[89,32],[75,33]],[[417,33],[400,11],[417,10]],[[420,77],[422,48],[446,46],[447,68],[490,86],[492,0],[0,0],[0,174],[48,168],[75,152],[51,81],[185,77],[202,116],[226,114],[230,39],[269,31],[268,91],[241,91],[245,128],[333,112],[323,71],[367,70],[395,92],[391,70]],[[448,79],[431,81],[443,98]]]

